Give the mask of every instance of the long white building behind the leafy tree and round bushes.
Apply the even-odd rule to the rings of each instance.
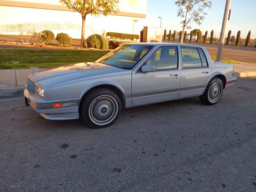
[[[120,0],[119,12],[108,16],[88,15],[86,36],[105,32],[140,34],[147,0]],[[81,37],[81,15],[58,0],[0,0],[0,34],[30,34],[45,29]]]

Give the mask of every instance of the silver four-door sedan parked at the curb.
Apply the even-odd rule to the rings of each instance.
[[[95,62],[28,76],[25,102],[51,120],[109,126],[124,108],[199,96],[216,104],[236,82],[233,66],[213,62],[203,47],[125,44]]]

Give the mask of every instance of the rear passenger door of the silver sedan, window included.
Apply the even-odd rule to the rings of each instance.
[[[179,98],[202,95],[211,74],[206,56],[201,48],[181,47],[182,69]]]

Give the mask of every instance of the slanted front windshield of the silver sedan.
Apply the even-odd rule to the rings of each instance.
[[[101,57],[96,62],[121,69],[133,69],[152,48],[153,46],[147,45],[123,45]]]

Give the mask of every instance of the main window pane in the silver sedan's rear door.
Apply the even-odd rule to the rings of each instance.
[[[183,47],[182,49],[182,68],[202,67],[201,58],[197,48]]]

